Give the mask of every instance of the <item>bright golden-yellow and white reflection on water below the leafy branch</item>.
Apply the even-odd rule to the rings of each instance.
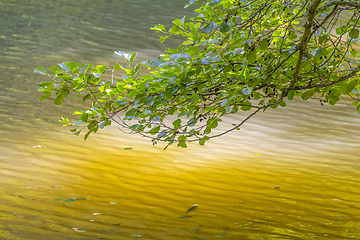
[[[228,229],[229,239],[357,238],[357,115],[304,106],[186,150],[164,152],[115,127],[87,141],[64,131],[14,143],[0,166],[3,236],[212,239]],[[87,200],[55,201],[73,197]]]

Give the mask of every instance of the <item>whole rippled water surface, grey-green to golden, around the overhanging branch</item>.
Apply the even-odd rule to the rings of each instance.
[[[360,239],[360,119],[347,99],[292,101],[166,151],[115,126],[83,141],[58,122],[80,102],[38,101],[35,67],[156,57],[177,42],[149,28],[191,16],[186,2],[0,2],[1,239]]]

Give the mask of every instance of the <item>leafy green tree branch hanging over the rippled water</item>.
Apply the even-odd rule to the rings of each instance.
[[[126,65],[64,62],[35,72],[40,100],[56,94],[60,105],[70,93],[91,100],[71,124],[85,139],[111,123],[168,145],[203,145],[224,135],[259,111],[285,107],[287,100],[318,98],[336,104],[341,95],[359,104],[360,3],[324,0],[191,0],[197,16],[153,27],[160,41],[180,35],[184,42],[153,60],[134,64],[137,53],[116,52]],[[340,14],[349,16],[340,20]],[[140,74],[141,68],[148,74]],[[115,77],[122,71],[124,76]],[[248,117],[220,134],[212,134],[227,114],[248,111]]]

